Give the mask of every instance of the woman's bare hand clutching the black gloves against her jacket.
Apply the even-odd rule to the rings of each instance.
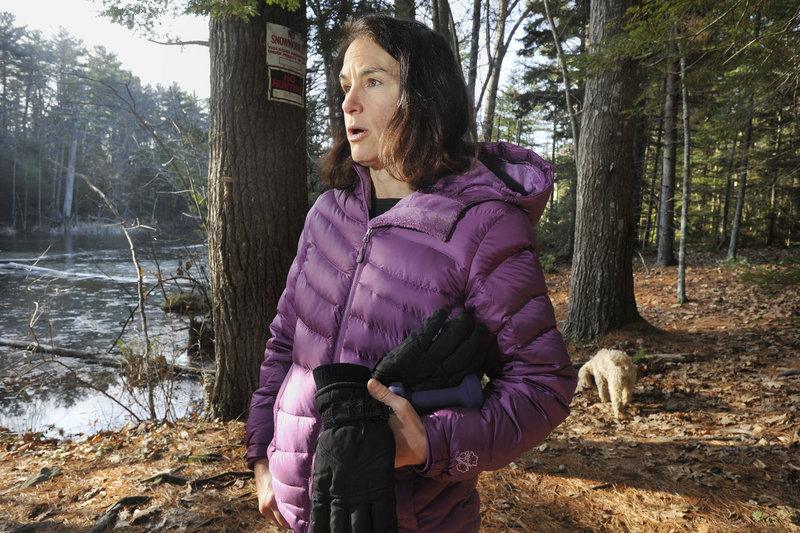
[[[389,427],[394,433],[396,453],[394,467],[422,465],[428,461],[428,436],[414,407],[408,400],[398,396],[380,381],[371,379],[367,390],[373,398],[383,402],[392,410]]]

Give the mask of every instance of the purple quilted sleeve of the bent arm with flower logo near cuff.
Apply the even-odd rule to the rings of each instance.
[[[484,226],[465,305],[492,335],[484,405],[423,417],[424,476],[463,480],[502,468],[569,414],[576,375],[556,329],[533,228],[521,211],[503,207]]]

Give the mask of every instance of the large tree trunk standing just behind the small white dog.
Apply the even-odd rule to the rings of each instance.
[[[592,52],[619,34],[630,0],[591,3]],[[611,64],[612,62],[608,62]],[[577,223],[564,335],[591,339],[639,318],[633,292],[634,61],[616,58],[586,83]]]

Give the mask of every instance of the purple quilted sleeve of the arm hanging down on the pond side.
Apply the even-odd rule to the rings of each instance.
[[[259,373],[259,386],[250,400],[247,419],[247,466],[253,468],[256,460],[267,457],[267,447],[274,432],[273,407],[289,367],[292,364],[294,330],[297,323],[294,295],[300,265],[308,249],[308,231],[303,230],[287,276],[286,288],[278,301],[278,312],[270,324],[270,338],[264,351],[264,361]]]

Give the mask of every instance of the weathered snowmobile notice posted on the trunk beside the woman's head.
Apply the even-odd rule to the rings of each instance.
[[[306,45],[286,26],[267,23],[269,99],[305,106]]]

